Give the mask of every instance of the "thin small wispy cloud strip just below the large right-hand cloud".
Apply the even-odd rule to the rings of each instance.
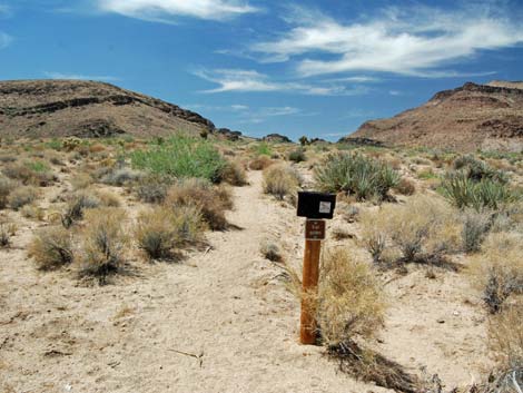
[[[344,85],[328,83],[302,83],[296,81],[275,81],[267,75],[254,70],[243,69],[200,69],[194,72],[196,76],[219,85],[215,89],[204,92],[226,92],[226,91],[287,91],[312,96],[352,96],[367,92],[362,86],[347,88]]]

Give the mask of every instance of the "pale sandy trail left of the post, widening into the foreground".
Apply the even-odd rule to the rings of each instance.
[[[2,392],[385,392],[353,381],[297,344],[298,304],[259,255],[267,237],[302,236],[294,209],[262,194],[260,173],[235,188],[240,229],[182,264],[139,265],[140,277],[82,287],[2,254]],[[23,246],[30,235],[16,239]]]

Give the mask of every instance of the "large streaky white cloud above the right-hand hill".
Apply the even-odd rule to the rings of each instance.
[[[303,11],[279,39],[258,42],[250,49],[263,55],[262,61],[299,57],[297,71],[302,76],[362,70],[424,76],[482,50],[523,42],[521,19],[491,6],[448,11],[388,8],[373,19],[352,23]],[[325,60],[318,53],[334,59]],[[447,75],[440,71],[437,76]]]

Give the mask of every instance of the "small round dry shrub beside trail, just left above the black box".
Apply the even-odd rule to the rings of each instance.
[[[299,174],[288,165],[274,165],[264,170],[264,193],[280,200],[296,194],[300,183]]]

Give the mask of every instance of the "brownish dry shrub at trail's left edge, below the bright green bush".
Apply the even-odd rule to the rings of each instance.
[[[227,227],[225,212],[233,207],[230,193],[225,187],[213,186],[205,179],[191,178],[172,186],[165,204],[172,208],[195,206],[201,210],[201,217],[213,230]]]

